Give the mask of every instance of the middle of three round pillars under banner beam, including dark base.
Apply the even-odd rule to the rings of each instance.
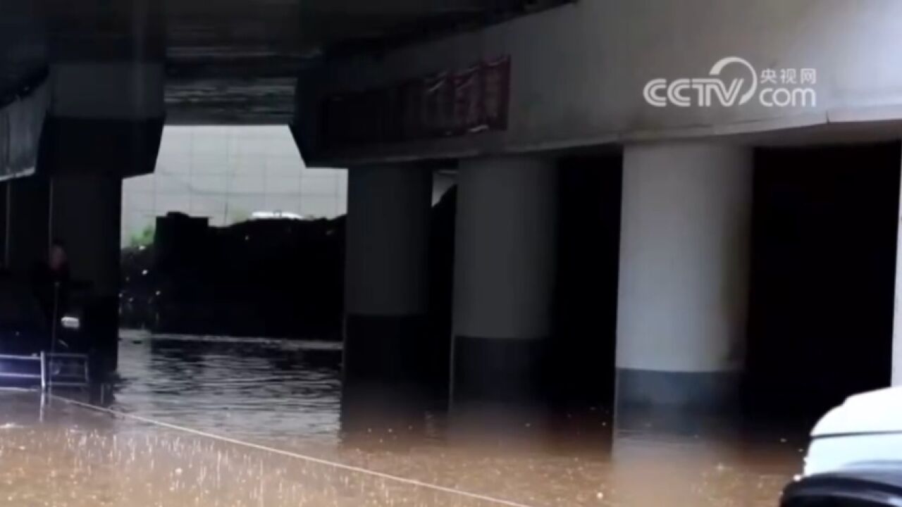
[[[454,401],[530,401],[552,327],[553,161],[461,161],[458,176]]]

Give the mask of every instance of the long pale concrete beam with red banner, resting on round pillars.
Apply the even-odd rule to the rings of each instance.
[[[698,22],[704,13],[704,23]],[[511,58],[508,128],[503,132],[361,143],[307,150],[310,163],[346,165],[501,152],[673,140],[834,124],[902,120],[902,51],[892,0],[643,2],[582,0],[510,22],[388,51],[330,60],[300,77],[300,131],[318,132],[326,97],[361,92],[466,69],[479,60]],[[674,43],[679,41],[679,43]],[[815,103],[767,106],[751,97],[734,106],[651,106],[650,80],[708,78],[727,57],[747,60],[724,69],[726,86],[759,84],[764,69],[815,69]],[[778,72],[779,74],[779,72]],[[778,76],[779,78],[779,76]],[[770,85],[772,86],[772,85]],[[783,85],[778,84],[778,87]],[[789,88],[793,88],[791,85]]]

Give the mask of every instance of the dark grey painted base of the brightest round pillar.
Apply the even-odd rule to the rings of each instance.
[[[697,434],[736,417],[741,373],[617,370],[618,429]]]

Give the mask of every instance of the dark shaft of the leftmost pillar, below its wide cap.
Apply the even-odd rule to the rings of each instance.
[[[61,174],[51,185],[53,238],[65,246],[72,280],[87,285],[85,331],[105,366],[115,369],[122,180],[108,174]]]

